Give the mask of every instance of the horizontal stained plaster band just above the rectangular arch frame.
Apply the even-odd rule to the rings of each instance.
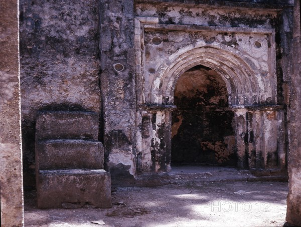
[[[153,2],[153,1],[149,1]],[[156,1],[154,1],[156,2]],[[213,9],[204,5],[197,7],[193,4],[182,6],[170,3],[136,3],[135,12],[139,16],[159,17],[163,24],[224,26],[224,27],[257,27],[267,28],[271,26],[275,17],[273,10],[260,12],[250,9]],[[265,18],[264,18],[265,17]]]

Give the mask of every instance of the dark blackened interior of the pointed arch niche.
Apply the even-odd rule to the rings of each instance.
[[[234,113],[226,84],[215,71],[198,65],[175,87],[172,114],[172,165],[236,166]]]

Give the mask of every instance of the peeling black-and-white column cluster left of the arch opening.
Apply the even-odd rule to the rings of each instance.
[[[169,172],[172,153],[173,105],[139,105],[142,113],[141,151],[137,154],[139,172]]]

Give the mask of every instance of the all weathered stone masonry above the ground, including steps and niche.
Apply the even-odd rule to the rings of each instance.
[[[110,207],[111,182],[177,165],[288,175],[300,225],[299,8],[0,1],[2,225],[22,226],[22,185],[41,208]]]

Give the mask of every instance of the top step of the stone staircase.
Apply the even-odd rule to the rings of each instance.
[[[36,140],[98,139],[98,114],[83,111],[38,111]]]

